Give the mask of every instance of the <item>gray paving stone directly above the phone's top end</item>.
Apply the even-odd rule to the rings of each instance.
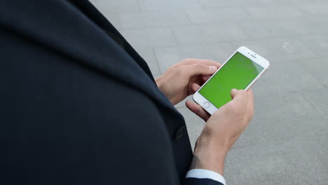
[[[247,39],[247,34],[232,23],[172,27],[179,44],[218,43]]]

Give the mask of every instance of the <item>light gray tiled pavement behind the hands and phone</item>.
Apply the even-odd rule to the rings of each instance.
[[[228,184],[328,184],[328,1],[93,0],[154,76],[184,58],[224,62],[238,46],[271,61],[256,113],[228,154]],[[203,125],[184,103],[191,142]]]

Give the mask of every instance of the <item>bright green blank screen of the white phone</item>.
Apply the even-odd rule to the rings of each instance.
[[[237,52],[221,69],[199,90],[208,101],[219,108],[230,102],[231,90],[245,89],[264,68],[245,55]]]

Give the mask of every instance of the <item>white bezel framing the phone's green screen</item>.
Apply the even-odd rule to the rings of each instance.
[[[261,67],[263,67],[264,69],[261,71],[261,73],[259,73],[259,75],[257,75],[256,78],[254,78],[254,80],[247,85],[247,87],[245,88],[245,90],[250,89],[250,87],[252,87],[252,85],[262,76],[262,74],[264,74],[266,72],[266,70],[268,69],[268,67],[270,66],[270,62],[268,62],[268,60],[266,60],[264,57],[261,57],[261,55],[258,55],[257,53],[255,53],[254,51],[250,50],[249,48],[246,48],[245,46],[241,46],[240,48],[238,48],[238,50],[236,50],[229,58],[228,60],[226,60],[226,62],[224,62],[224,64],[221,65],[221,67],[219,69],[217,69],[217,71],[197,90],[197,92],[193,95],[193,100],[198,103],[201,107],[203,107],[203,109],[205,109],[205,111],[207,111],[209,114],[214,114],[215,111],[217,111],[217,107],[214,106],[214,104],[212,104],[209,100],[207,100],[205,97],[203,97],[203,95],[200,95],[200,93],[198,93],[198,91],[203,88],[203,86],[211,80],[211,78],[217,74],[217,72],[224,67],[224,65],[231,59],[231,57],[233,57],[233,55],[235,55],[235,53],[241,53],[242,55],[245,55],[245,57],[248,57],[250,60],[252,60],[253,62],[256,62],[257,64],[259,64]],[[208,102],[210,104],[209,107],[205,107],[204,104]]]

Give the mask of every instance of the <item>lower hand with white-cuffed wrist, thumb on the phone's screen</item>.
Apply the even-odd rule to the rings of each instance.
[[[195,89],[194,89],[195,90]],[[233,100],[212,116],[194,102],[186,102],[191,111],[207,121],[196,142],[191,169],[224,171],[224,158],[254,114],[252,90],[231,90]],[[207,120],[208,119],[208,120]]]

